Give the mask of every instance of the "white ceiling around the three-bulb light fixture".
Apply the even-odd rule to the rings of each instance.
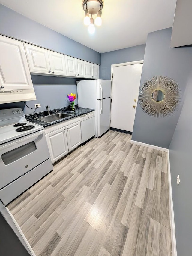
[[[0,3],[101,53],[144,44],[149,32],[172,27],[176,6],[176,0],[104,0],[102,26],[90,35],[82,0]]]

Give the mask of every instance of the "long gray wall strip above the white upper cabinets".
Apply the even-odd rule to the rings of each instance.
[[[54,2],[53,2],[54,4]],[[101,64],[101,54],[0,4],[0,34]]]

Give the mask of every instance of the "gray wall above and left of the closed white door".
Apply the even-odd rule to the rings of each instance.
[[[145,44],[112,52],[101,53],[100,78],[111,80],[111,65],[129,61],[141,61],[145,54]]]

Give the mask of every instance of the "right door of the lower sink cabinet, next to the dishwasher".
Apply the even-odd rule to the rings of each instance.
[[[66,126],[69,152],[81,144],[80,122]]]

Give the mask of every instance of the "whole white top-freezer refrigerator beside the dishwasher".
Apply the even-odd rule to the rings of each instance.
[[[78,105],[95,109],[95,137],[110,129],[111,81],[77,81]]]

